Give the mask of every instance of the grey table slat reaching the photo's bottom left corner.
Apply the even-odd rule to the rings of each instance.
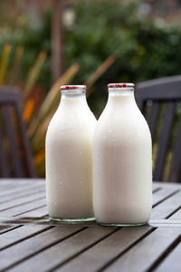
[[[78,226],[69,226],[69,228],[66,226],[62,226],[62,228],[51,228],[36,236],[25,239],[10,248],[6,248],[5,250],[0,251],[1,269],[3,270],[7,267],[11,267],[16,263],[21,262],[24,258],[31,257],[41,250],[49,248],[63,239],[70,237],[81,229],[82,228]],[[28,261],[25,263],[27,262]],[[33,271],[33,267],[27,267],[26,271],[28,270]],[[38,269],[35,269],[34,271],[38,271]],[[43,271],[43,269],[40,269],[39,271]]]

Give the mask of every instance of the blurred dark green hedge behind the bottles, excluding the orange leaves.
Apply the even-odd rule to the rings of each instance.
[[[140,3],[140,1],[139,1]],[[75,22],[64,30],[64,69],[80,63],[74,83],[85,83],[90,74],[112,53],[117,61],[100,78],[89,99],[93,111],[101,112],[111,82],[138,83],[181,73],[181,27],[151,22],[138,12],[139,3],[123,5],[116,0],[80,0],[75,5]],[[51,11],[37,29],[28,25],[1,35],[0,44],[24,45],[24,73],[41,49],[48,57],[39,78],[46,90],[51,84]]]

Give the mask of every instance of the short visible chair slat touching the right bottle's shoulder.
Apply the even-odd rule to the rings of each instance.
[[[148,125],[151,132],[152,141],[155,140],[158,115],[159,115],[159,103],[154,102],[148,116]]]

